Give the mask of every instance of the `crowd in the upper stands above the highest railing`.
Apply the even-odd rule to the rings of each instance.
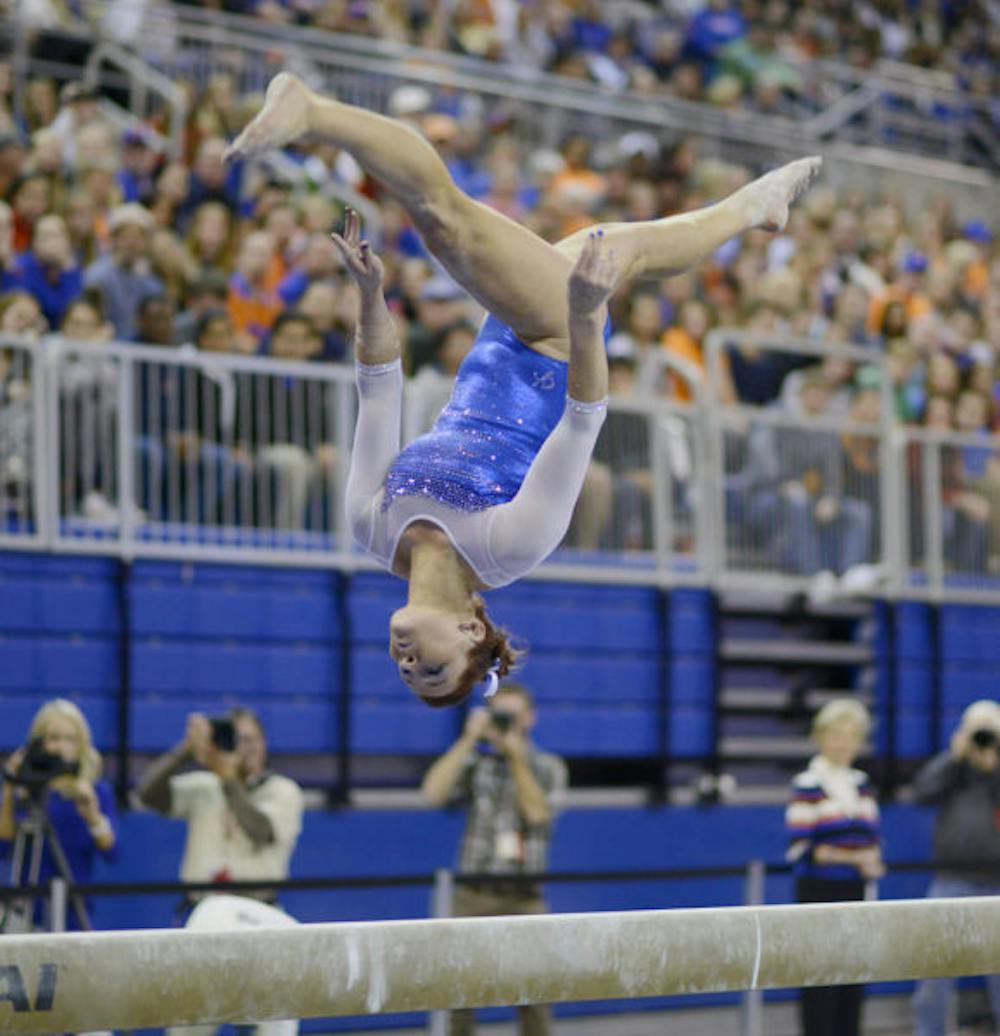
[[[1000,57],[984,3],[906,0],[215,0],[269,23],[395,39],[726,108],[788,114],[819,102],[807,64],[933,68],[989,102]],[[993,33],[981,31],[991,24]]]

